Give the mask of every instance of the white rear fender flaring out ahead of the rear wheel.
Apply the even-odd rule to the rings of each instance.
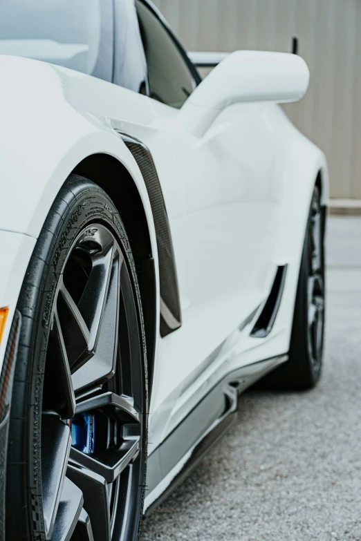
[[[275,173],[279,178],[279,193],[283,193],[277,220],[275,263],[287,264],[288,270],[283,294],[285,302],[281,303],[277,314],[274,333],[277,334],[281,329],[287,330],[288,335],[284,336],[284,339],[288,348],[291,331],[289,322],[293,321],[308,212],[318,178],[321,182],[322,205],[328,205],[328,169],[324,153],[295,129],[281,108],[268,108],[264,113],[270,115],[267,120],[272,124],[275,120],[272,120],[272,115],[280,115],[277,125],[283,132],[278,134],[281,135],[281,151],[275,164]]]

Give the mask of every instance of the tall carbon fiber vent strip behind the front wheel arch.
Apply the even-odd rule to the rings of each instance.
[[[160,277],[160,335],[167,336],[180,328],[180,301],[178,281],[176,275],[176,262],[172,237],[162,189],[158,179],[156,166],[147,146],[142,142],[118,132],[122,140],[133,154],[147,187],[151,210],[153,212],[154,226],[159,258]]]

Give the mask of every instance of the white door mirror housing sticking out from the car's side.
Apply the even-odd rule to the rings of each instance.
[[[181,109],[194,135],[201,136],[225,107],[237,103],[297,102],[306,94],[310,72],[301,57],[239,50],[205,77]]]

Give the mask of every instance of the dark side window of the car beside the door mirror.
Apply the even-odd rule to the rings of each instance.
[[[136,0],[145,56],[149,95],[180,108],[196,86],[192,72],[163,23],[140,0]]]

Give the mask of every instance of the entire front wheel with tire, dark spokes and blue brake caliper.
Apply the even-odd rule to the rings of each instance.
[[[74,304],[84,305],[85,311]],[[107,194],[90,180],[71,175],[59,191],[28,265],[17,310],[22,323],[10,412],[6,540],[86,540],[91,524],[94,541],[110,541],[96,518],[105,520],[117,539],[136,541],[147,448],[142,307],[122,220]],[[89,316],[86,310],[93,312]],[[82,331],[84,321],[90,322],[89,332]],[[83,339],[80,354],[76,348]],[[82,374],[93,378],[84,380],[84,388]],[[74,417],[75,396],[77,409],[85,412]],[[75,455],[69,458],[70,445]],[[118,453],[117,469],[106,471],[104,464],[113,464],[111,453]],[[91,459],[98,473],[91,470],[93,463],[86,469]]]

